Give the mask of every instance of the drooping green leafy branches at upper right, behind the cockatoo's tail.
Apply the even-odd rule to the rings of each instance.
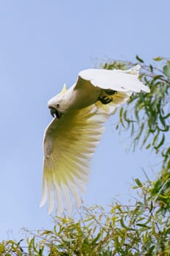
[[[131,136],[134,137],[134,148],[140,143],[142,147],[152,147],[158,153],[165,149],[165,136],[170,128],[170,60],[155,58],[154,62],[166,62],[158,68],[153,64],[144,64],[139,56],[136,56],[136,59],[141,62],[142,67],[139,78],[150,87],[150,93],[142,91],[131,96],[128,105],[120,108],[117,129],[130,130]],[[113,61],[104,64],[104,68],[128,69],[134,64],[136,63],[130,61]],[[170,148],[166,149],[169,150],[163,154],[165,161],[170,156]]]

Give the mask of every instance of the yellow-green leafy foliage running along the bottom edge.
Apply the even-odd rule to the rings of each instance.
[[[53,230],[28,231],[26,252],[20,243],[2,241],[0,255],[170,255],[170,216],[150,195],[152,183],[136,178],[133,189],[134,205],[115,201],[108,212],[94,206],[82,208],[79,218],[55,217]]]

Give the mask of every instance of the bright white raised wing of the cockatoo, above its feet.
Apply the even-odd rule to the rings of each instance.
[[[83,80],[90,81],[91,85],[101,89],[112,89],[115,91],[146,91],[150,89],[138,79],[140,65],[136,65],[128,70],[120,69],[85,69],[79,73]],[[77,80],[76,86],[79,86]],[[83,83],[80,83],[81,86]]]

